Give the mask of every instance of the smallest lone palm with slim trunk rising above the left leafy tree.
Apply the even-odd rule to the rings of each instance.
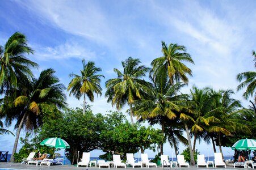
[[[85,114],[86,109],[86,100],[87,96],[90,101],[94,101],[94,92],[97,95],[102,95],[102,88],[100,87],[100,78],[104,76],[96,74],[99,71],[102,71],[99,67],[95,67],[93,61],[85,62],[85,59],[82,59],[83,70],[81,70],[81,76],[77,74],[69,74],[69,77],[73,78],[68,86],[68,91],[70,90],[69,96],[72,94],[78,100],[83,95],[83,114]]]

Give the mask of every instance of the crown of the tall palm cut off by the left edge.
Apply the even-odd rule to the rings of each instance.
[[[31,79],[30,67],[38,67],[37,63],[24,57],[32,54],[33,50],[27,46],[27,39],[22,33],[15,32],[5,46],[0,46],[0,94],[6,89],[18,86],[18,78]]]

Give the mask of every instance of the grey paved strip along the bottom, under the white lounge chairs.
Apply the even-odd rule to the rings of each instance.
[[[51,166],[47,166],[47,165],[26,165],[26,164],[20,164],[20,163],[0,163],[0,169],[85,169],[85,170],[95,170],[95,169],[99,169],[99,167],[78,167],[77,166],[74,166],[74,165],[51,165]],[[100,168],[100,169],[108,169],[108,168]],[[116,169],[116,168],[110,168],[112,170]],[[124,168],[117,168],[118,170],[124,170]],[[132,170],[133,168],[131,167],[128,167],[127,169],[130,169]],[[163,170],[163,169],[169,169],[170,170],[170,167],[169,168],[162,168],[162,167],[157,167],[157,168],[154,168],[154,167],[150,167],[150,168],[134,168],[136,170]],[[243,170],[245,168],[233,168],[233,164],[227,164],[227,167],[226,168],[212,168],[212,167],[209,167],[209,168],[196,168],[196,166],[191,166],[190,168],[171,168],[171,169],[182,169],[182,170],[185,170],[185,169],[201,169],[201,170],[205,170],[205,169],[218,169],[218,170],[222,170],[222,169],[240,169],[240,170]],[[249,168],[251,169],[251,168]]]

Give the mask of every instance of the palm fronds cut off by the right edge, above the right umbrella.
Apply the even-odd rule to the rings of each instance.
[[[256,53],[253,50],[253,56],[254,56],[254,67],[256,68]],[[245,79],[245,80],[244,80]],[[237,91],[242,90],[242,88],[246,87],[246,91],[244,92],[243,96],[247,100],[249,96],[255,95],[255,89],[256,89],[256,72],[255,71],[247,71],[244,73],[239,73],[237,75],[238,82],[242,82],[237,86]],[[255,96],[256,97],[256,96]],[[254,102],[256,102],[256,98],[254,97]]]

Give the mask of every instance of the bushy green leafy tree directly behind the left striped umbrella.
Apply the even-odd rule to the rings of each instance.
[[[70,145],[67,156],[72,164],[76,164],[78,151],[82,154],[101,148],[100,134],[105,126],[102,114],[94,116],[90,107],[86,114],[80,108],[66,109],[64,117],[44,122],[39,141],[50,137],[64,139]]]

